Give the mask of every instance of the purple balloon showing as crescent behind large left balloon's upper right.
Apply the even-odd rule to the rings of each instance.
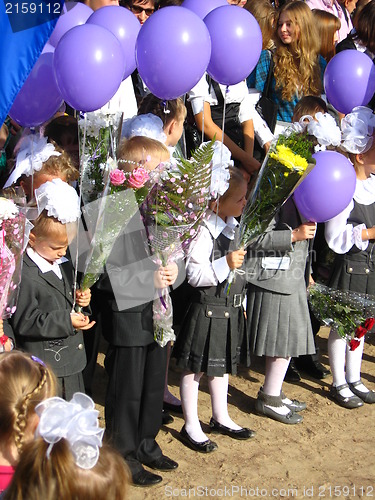
[[[123,79],[133,73],[137,67],[135,61],[135,42],[141,24],[136,16],[125,7],[108,5],[96,10],[87,20],[87,24],[97,24],[107,28],[121,43],[125,55],[125,74]]]

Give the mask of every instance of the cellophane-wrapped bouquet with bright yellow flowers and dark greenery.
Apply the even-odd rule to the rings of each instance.
[[[237,248],[246,249],[266,231],[276,212],[311,172],[314,145],[307,133],[293,130],[272,142],[240,219]],[[228,293],[236,272],[240,271],[229,274]]]

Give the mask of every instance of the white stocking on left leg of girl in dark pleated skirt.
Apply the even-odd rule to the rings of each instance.
[[[198,443],[207,441],[198,418],[199,382],[203,373],[185,372],[181,376],[180,396],[185,418],[185,429],[191,439]]]

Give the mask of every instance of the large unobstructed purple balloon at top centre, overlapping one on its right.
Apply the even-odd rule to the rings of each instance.
[[[182,96],[202,78],[210,60],[210,35],[189,9],[164,7],[142,26],[136,43],[139,74],[160,99]]]

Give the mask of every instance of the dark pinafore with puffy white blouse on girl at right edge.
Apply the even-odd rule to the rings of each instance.
[[[362,241],[362,230],[375,226],[375,176],[357,180],[354,199],[326,223],[325,236],[335,252],[329,286],[375,295],[374,241]]]

